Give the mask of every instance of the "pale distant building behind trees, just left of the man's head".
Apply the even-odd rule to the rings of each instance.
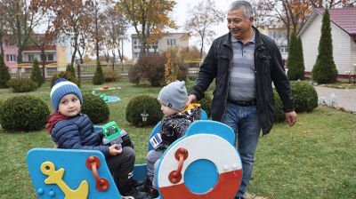
[[[137,34],[131,35],[133,60],[139,59],[141,52],[141,42],[137,37]],[[148,45],[148,52],[166,52],[167,49],[175,48],[187,48],[189,46],[188,33],[168,33],[163,34],[161,38],[155,44]]]

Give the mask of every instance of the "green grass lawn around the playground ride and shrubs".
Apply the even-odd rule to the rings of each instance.
[[[191,83],[190,83],[191,84]],[[110,121],[116,120],[134,140],[136,162],[144,163],[147,139],[153,126],[136,128],[125,121],[125,106],[134,96],[157,97],[160,88],[136,86],[126,80],[108,84],[120,86],[119,103],[109,103]],[[82,83],[82,92],[91,92]],[[0,90],[0,100],[15,95],[34,95],[49,100],[50,87],[36,92],[12,93]],[[117,91],[102,92],[116,95]],[[295,127],[275,124],[261,137],[255,158],[255,171],[248,187],[252,195],[267,198],[355,198],[356,195],[356,115],[318,107],[311,114],[299,114]],[[0,130],[0,198],[36,198],[29,179],[26,154],[33,147],[53,147],[46,131],[6,132]]]

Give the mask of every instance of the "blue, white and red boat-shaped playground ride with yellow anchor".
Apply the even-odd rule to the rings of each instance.
[[[150,137],[159,131],[155,129]],[[186,134],[162,156],[158,166],[158,198],[233,198],[242,178],[234,141],[232,129],[223,123],[208,120],[192,123]],[[121,198],[99,151],[34,148],[28,151],[27,161],[40,199]],[[135,165],[134,179],[145,179],[146,175],[145,164]]]

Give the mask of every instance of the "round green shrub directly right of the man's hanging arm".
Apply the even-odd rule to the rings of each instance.
[[[295,99],[295,112],[312,112],[318,107],[318,93],[306,82],[291,82],[292,94]]]

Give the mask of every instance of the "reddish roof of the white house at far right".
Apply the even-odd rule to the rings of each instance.
[[[315,9],[320,14],[324,13],[323,8]],[[330,20],[336,26],[342,28],[350,36],[356,35],[356,7],[333,8],[329,10]]]

